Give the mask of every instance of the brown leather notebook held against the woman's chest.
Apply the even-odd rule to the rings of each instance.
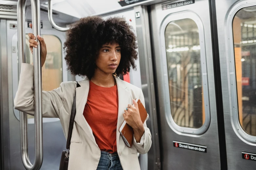
[[[143,104],[141,103],[140,99],[135,99],[135,101],[138,103],[141,121],[142,121],[142,123],[144,123],[147,118],[147,111],[146,111],[145,107],[143,106]],[[120,132],[121,136],[123,137],[126,145],[130,148],[133,144],[133,135],[134,135],[132,127],[130,127],[124,120],[122,125],[119,128],[119,132]]]

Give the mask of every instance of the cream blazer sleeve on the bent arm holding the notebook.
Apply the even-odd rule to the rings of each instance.
[[[143,106],[145,107],[145,99],[144,99],[144,95],[143,95],[143,92],[142,92],[141,89],[140,89],[140,98],[139,99],[142,102]],[[133,140],[134,140],[133,145],[135,146],[135,148],[138,150],[138,152],[140,154],[147,153],[149,151],[150,147],[151,147],[151,144],[152,144],[151,133],[150,133],[150,130],[147,128],[146,120],[143,124],[144,129],[145,129],[143,142],[141,141],[141,143],[143,143],[143,144],[137,143],[135,138],[133,138]]]

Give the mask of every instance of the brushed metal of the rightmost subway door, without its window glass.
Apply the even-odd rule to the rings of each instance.
[[[253,0],[215,0],[218,26],[221,86],[225,121],[228,169],[255,169],[255,162],[242,159],[242,152],[256,153],[256,145],[251,143],[242,130],[238,119],[236,83],[234,82],[233,37],[230,20],[243,7],[256,5]],[[233,73],[232,73],[233,72]],[[243,135],[244,134],[244,135]],[[252,138],[253,139],[253,138]]]

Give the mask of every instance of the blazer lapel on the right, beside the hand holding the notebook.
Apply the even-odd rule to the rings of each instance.
[[[126,90],[126,85],[121,79],[115,77],[115,80],[118,91],[118,119],[116,127],[116,146],[118,148],[120,136],[119,128],[124,121],[123,113],[128,105],[129,92]]]

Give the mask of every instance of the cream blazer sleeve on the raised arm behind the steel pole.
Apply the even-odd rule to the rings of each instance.
[[[33,68],[31,64],[22,64],[18,91],[14,98],[14,108],[29,115],[34,115]],[[43,117],[59,118],[64,93],[65,83],[63,82],[57,89],[42,92]]]

